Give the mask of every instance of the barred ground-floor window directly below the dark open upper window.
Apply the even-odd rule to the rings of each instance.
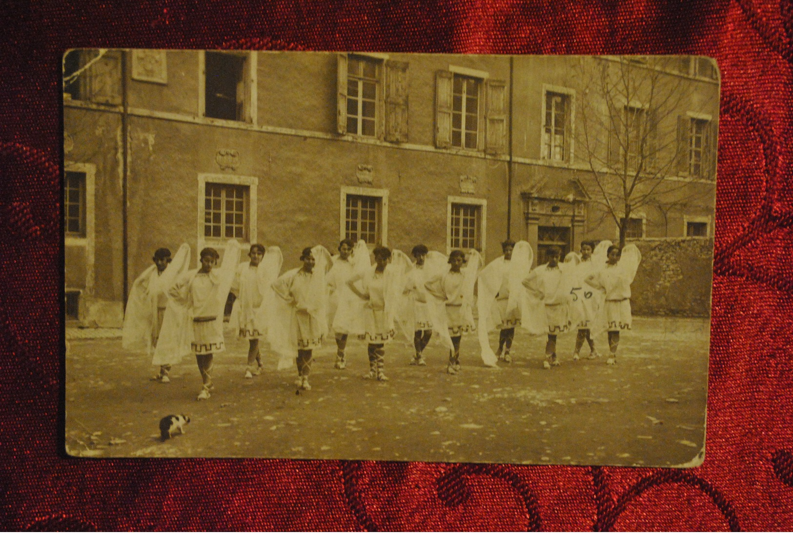
[[[248,239],[249,187],[247,185],[205,185],[204,236]]]

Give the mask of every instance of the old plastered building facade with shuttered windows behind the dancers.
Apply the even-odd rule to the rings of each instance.
[[[664,74],[691,95],[679,116],[714,128],[718,74],[696,58],[685,61]],[[345,237],[406,252],[419,242],[443,252],[476,247],[488,261],[508,236],[565,251],[584,238],[615,239],[577,149],[578,107],[588,95],[570,62],[67,52],[67,319],[118,326],[128,287],[154,250],[182,242],[193,250],[191,265],[203,246],[222,254],[229,237],[243,247],[278,245],[286,269],[298,265],[303,247],[335,250]],[[677,144],[714,162],[715,138],[708,139],[707,154],[689,150],[690,139]],[[665,180],[680,184],[674,195],[701,197],[699,204],[634,213],[629,237],[712,237],[714,178],[697,172]]]

